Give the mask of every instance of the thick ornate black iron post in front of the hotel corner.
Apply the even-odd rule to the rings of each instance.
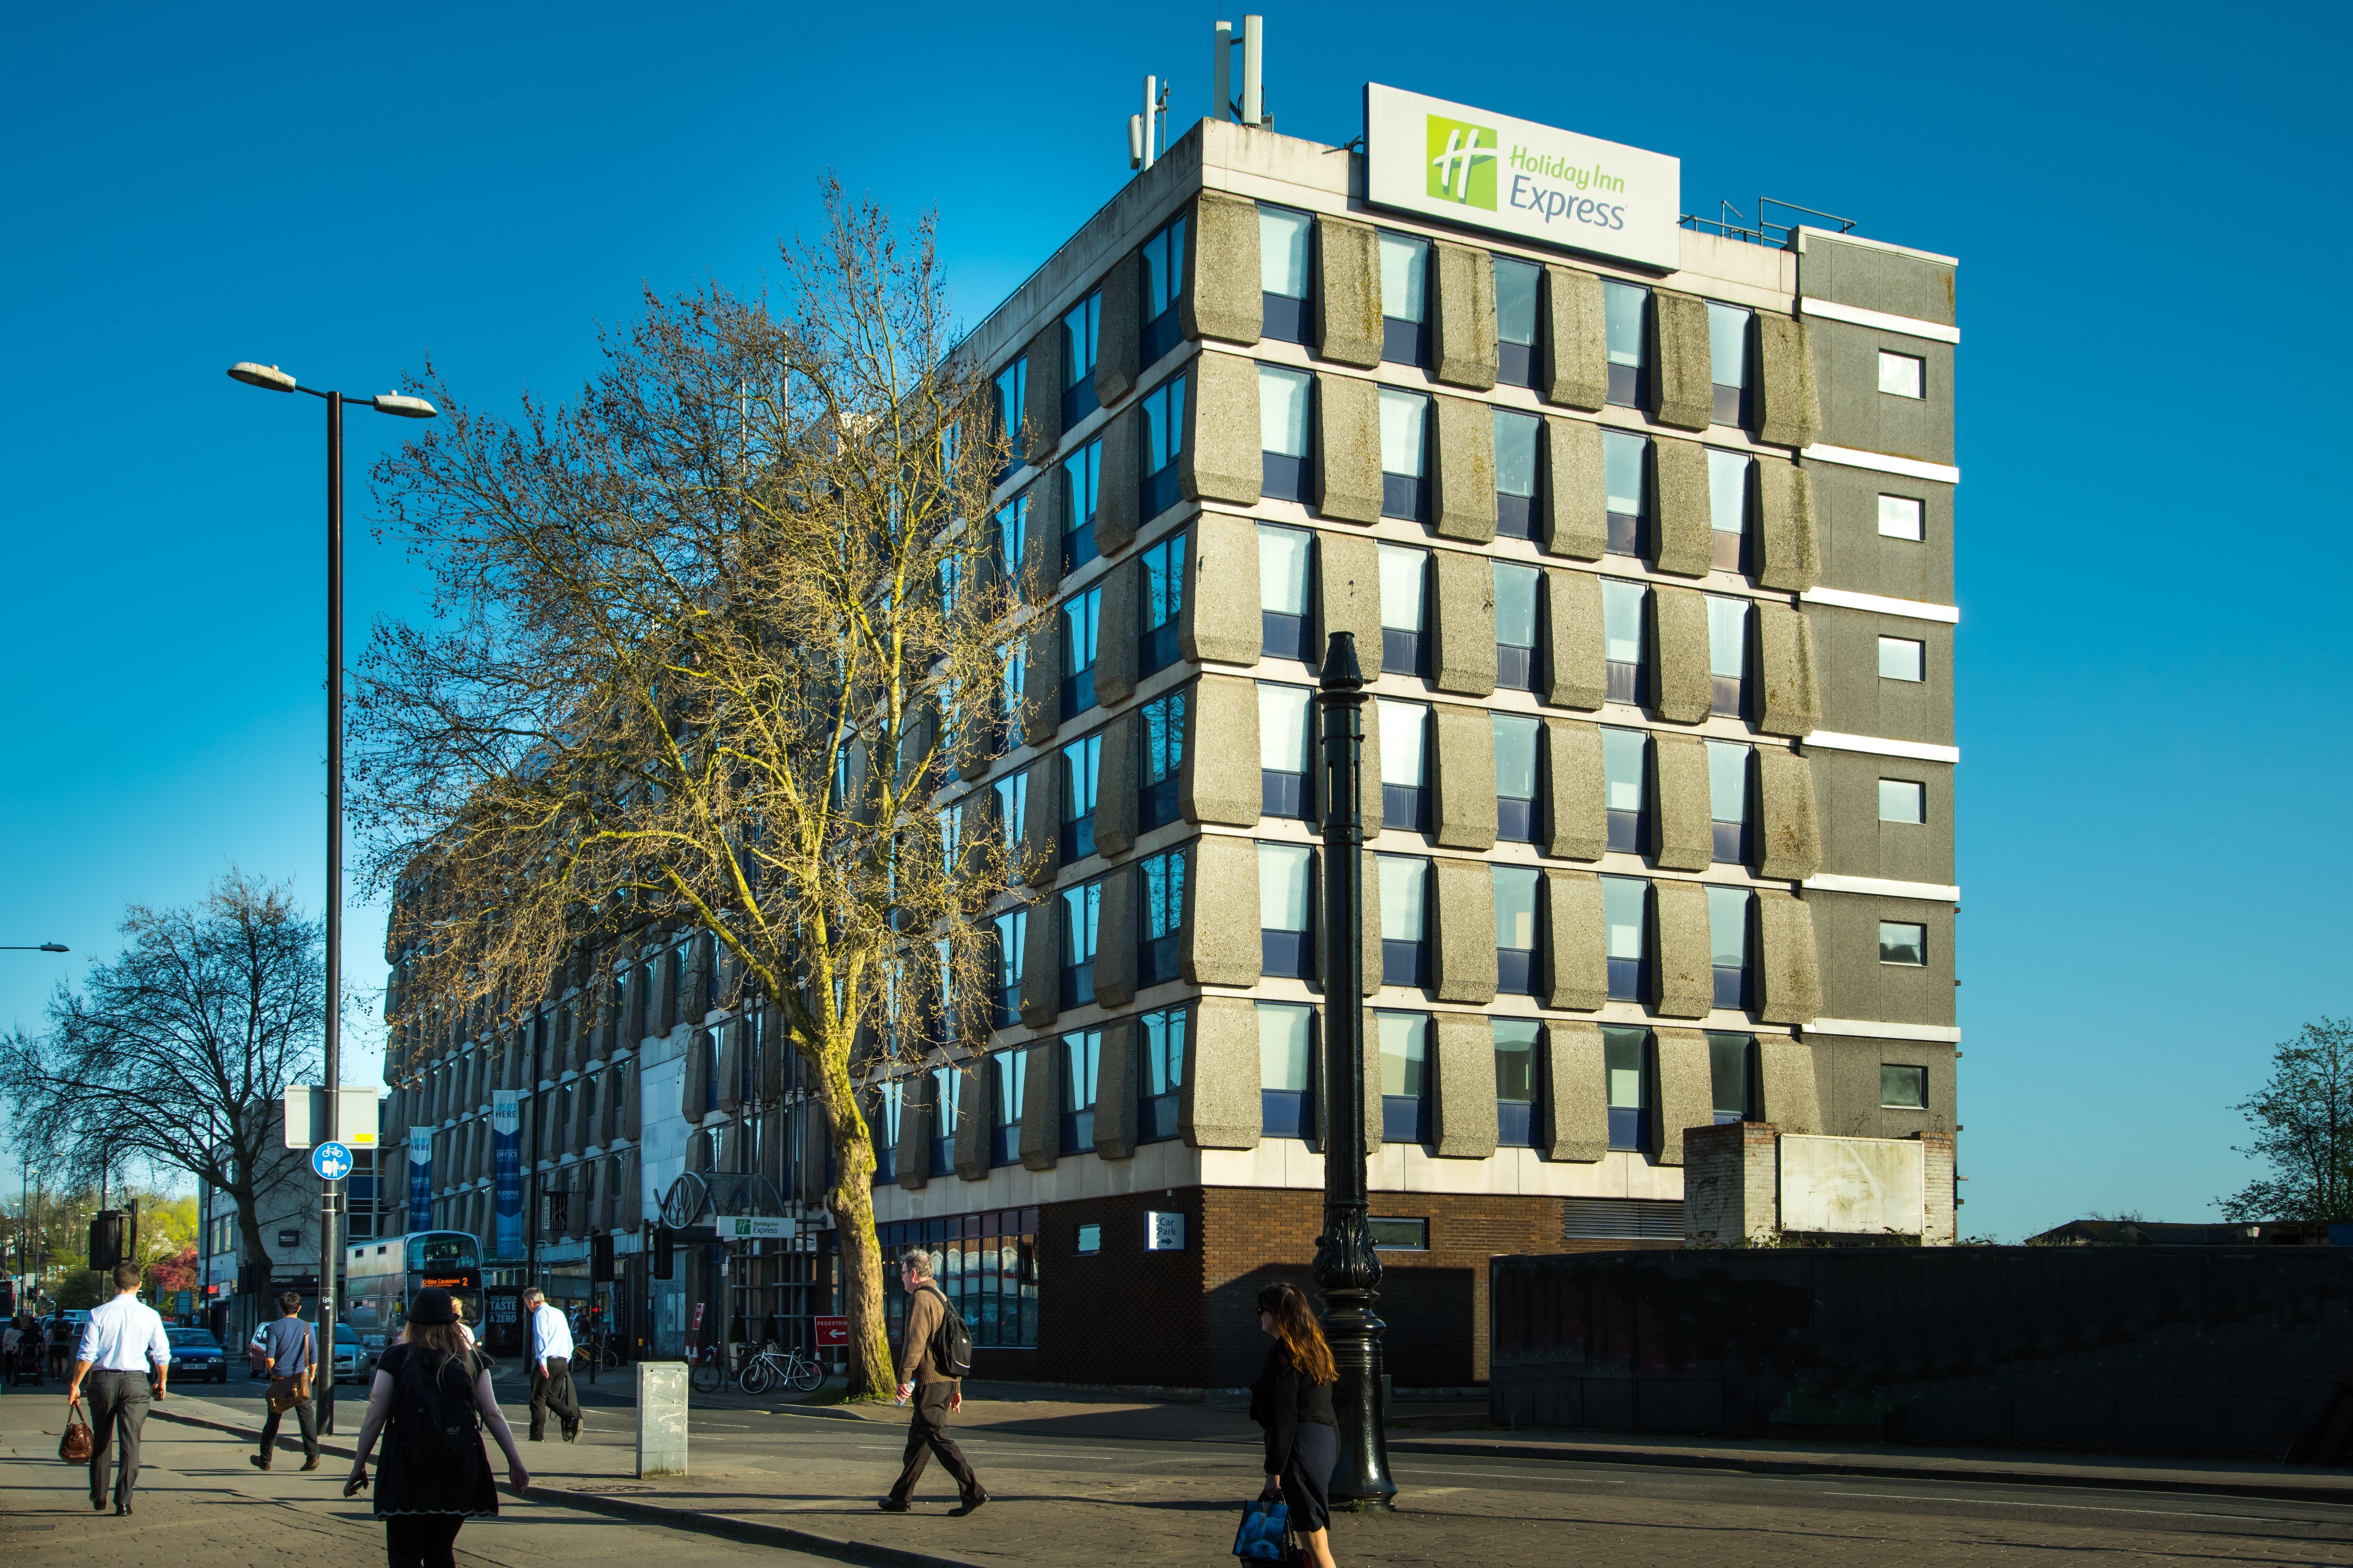
[[[1372,1302],[1381,1260],[1365,1220],[1365,676],[1355,638],[1334,631],[1315,706],[1322,711],[1325,841],[1325,1231],[1315,1238],[1315,1288],[1339,1366],[1339,1464],[1332,1495],[1388,1502],[1381,1422],[1381,1318]]]

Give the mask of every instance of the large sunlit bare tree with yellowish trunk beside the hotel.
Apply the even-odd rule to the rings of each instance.
[[[988,525],[1007,443],[951,353],[932,224],[838,186],[826,214],[776,313],[647,294],[567,407],[508,424],[428,372],[447,417],[376,494],[433,617],[374,636],[355,777],[402,1017],[520,1015],[633,930],[715,932],[807,1062],[852,1382],[880,1391],[859,1090],[993,986],[1009,864],[951,756],[1019,607]]]

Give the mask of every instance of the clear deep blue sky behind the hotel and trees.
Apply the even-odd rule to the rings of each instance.
[[[322,417],[231,360],[560,396],[640,285],[755,287],[828,167],[939,210],[976,320],[1127,179],[1146,71],[1200,118],[1217,14],[19,12],[0,942],[75,956],[0,954],[0,1024],[132,899],[318,902]],[[2344,7],[1266,16],[1278,129],[1386,80],[1962,259],[1962,1229],[2205,1217],[2268,1048],[2353,1012]],[[400,428],[351,417],[355,624],[416,603],[360,478]]]

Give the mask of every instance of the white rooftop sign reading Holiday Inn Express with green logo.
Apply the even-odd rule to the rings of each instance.
[[[1642,266],[1682,266],[1682,160],[1365,87],[1365,195],[1452,224]]]

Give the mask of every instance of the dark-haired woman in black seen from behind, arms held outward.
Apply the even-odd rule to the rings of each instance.
[[[489,1391],[489,1368],[456,1333],[449,1293],[419,1290],[400,1344],[376,1361],[360,1448],[344,1481],[346,1497],[367,1488],[367,1457],[381,1436],[374,1514],[384,1521],[388,1568],[456,1568],[459,1526],[499,1514],[482,1427],[499,1441],[506,1481],[520,1497],[532,1471]]]

